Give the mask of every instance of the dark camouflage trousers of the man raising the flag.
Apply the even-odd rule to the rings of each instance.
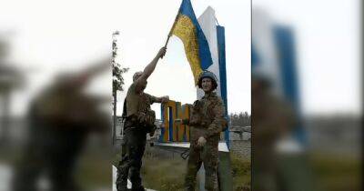
[[[126,130],[126,143],[123,146],[121,161],[117,166],[116,188],[117,191],[124,191],[127,185],[127,178],[130,177],[132,190],[144,190],[140,169],[142,158],[146,149],[146,133],[135,129]]]

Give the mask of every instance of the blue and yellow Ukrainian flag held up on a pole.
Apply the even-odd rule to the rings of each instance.
[[[198,76],[212,65],[212,58],[206,36],[198,24],[190,0],[182,1],[170,35],[177,35],[182,40],[197,84]]]

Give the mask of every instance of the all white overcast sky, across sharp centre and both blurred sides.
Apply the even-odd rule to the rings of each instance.
[[[120,31],[122,65],[142,70],[165,44],[181,0],[3,1],[0,35],[11,43],[9,60],[26,72],[27,85],[15,94],[14,111],[50,77],[111,54],[111,34]],[[192,0],[196,15],[211,5],[226,27],[228,111],[250,111],[250,1]],[[302,109],[308,113],[359,113],[359,0],[254,0],[278,22],[291,25],[298,41]],[[177,70],[178,69],[178,70]],[[111,76],[93,91],[108,95]],[[166,57],[150,76],[147,92],[182,103],[196,98],[183,45],[172,37]],[[119,96],[121,100],[123,95]],[[159,110],[159,106],[154,106]],[[121,110],[120,106],[118,108]],[[24,112],[23,112],[24,113]],[[250,113],[250,112],[249,112]]]

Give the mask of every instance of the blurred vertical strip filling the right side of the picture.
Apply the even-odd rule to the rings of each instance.
[[[359,0],[253,0],[253,172],[267,166],[278,172],[253,176],[253,183],[268,181],[270,190],[362,189],[362,73],[357,70],[362,68],[362,18]],[[279,134],[280,126],[268,123],[269,115],[257,116],[257,79],[272,92],[282,92],[276,94],[282,103],[291,104],[298,116],[293,132],[288,131],[294,136]],[[262,135],[279,135],[270,142],[275,149],[257,150],[264,145]],[[259,159],[264,156],[271,160],[264,163]]]

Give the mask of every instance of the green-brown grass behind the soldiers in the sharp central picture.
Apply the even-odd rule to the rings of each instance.
[[[186,173],[187,160],[180,156],[171,155],[158,156],[148,155],[152,152],[147,148],[143,158],[141,174],[144,185],[148,188],[159,191],[180,191],[184,190],[183,183]],[[154,151],[153,151],[154,152]],[[117,164],[120,154],[113,158],[113,164]],[[231,167],[233,174],[234,191],[250,190],[250,160],[238,156],[231,156]]]

